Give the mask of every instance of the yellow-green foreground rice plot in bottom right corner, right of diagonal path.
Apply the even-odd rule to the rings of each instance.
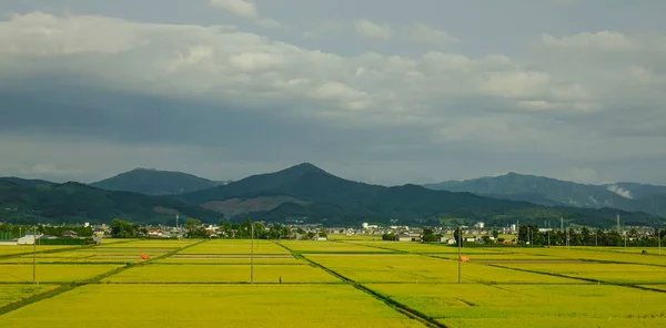
[[[617,286],[365,286],[451,327],[660,327],[666,320],[666,294]]]

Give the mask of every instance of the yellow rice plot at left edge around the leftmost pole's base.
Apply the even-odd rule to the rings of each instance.
[[[39,283],[72,283],[93,278],[118,265],[38,265]],[[0,265],[0,283],[31,283],[32,265]]]

